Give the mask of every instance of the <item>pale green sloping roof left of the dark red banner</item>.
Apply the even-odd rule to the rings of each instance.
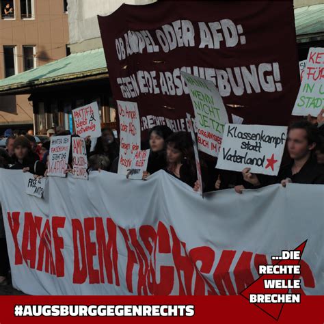
[[[0,80],[0,92],[20,90],[26,92],[32,87],[53,85],[62,81],[74,82],[93,76],[107,77],[107,64],[103,49],[94,49],[83,53],[70,54],[55,62],[33,68]],[[17,91],[15,91],[17,92]]]

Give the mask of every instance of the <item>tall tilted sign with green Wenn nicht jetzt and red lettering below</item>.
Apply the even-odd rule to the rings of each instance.
[[[185,79],[198,129],[198,148],[218,157],[224,126],[228,123],[227,112],[218,90],[211,81],[181,72]]]

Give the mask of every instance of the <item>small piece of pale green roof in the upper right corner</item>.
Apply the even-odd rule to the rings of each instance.
[[[323,40],[324,4],[295,9],[295,26],[298,42]]]

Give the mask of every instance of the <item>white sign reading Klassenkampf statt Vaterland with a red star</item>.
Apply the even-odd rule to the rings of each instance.
[[[216,167],[276,176],[286,133],[286,126],[226,124]]]

